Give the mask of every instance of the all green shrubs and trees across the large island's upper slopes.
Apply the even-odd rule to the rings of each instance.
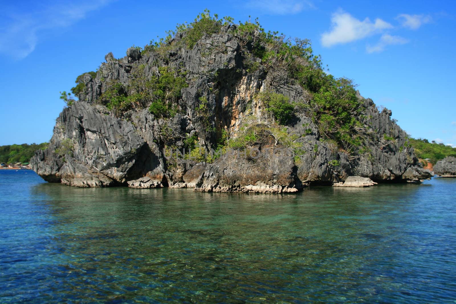
[[[182,89],[187,88],[190,82],[197,78],[187,79],[183,62],[173,62],[179,57],[179,52],[192,49],[204,35],[228,33],[238,41],[242,66],[236,66],[236,73],[265,73],[280,71],[287,75],[289,82],[299,85],[305,92],[306,98],[291,101],[288,97],[277,92],[277,88],[266,88],[266,91],[256,93],[254,98],[261,100],[265,112],[270,115],[272,124],[280,124],[287,129],[295,115],[303,114],[310,117],[318,128],[318,137],[332,140],[337,147],[347,155],[358,155],[363,146],[363,139],[359,136],[360,129],[365,126],[358,120],[361,105],[351,79],[335,78],[325,72],[321,56],[315,55],[308,39],[290,39],[277,31],[265,31],[255,19],[254,22],[245,21],[233,24],[233,18],[225,16],[221,19],[217,14],[211,16],[209,10],[204,10],[197,18],[187,24],[178,24],[174,31],[167,31],[167,36],[158,41],[151,41],[141,51],[142,56],[153,56],[154,63],[146,65],[135,62],[131,65],[128,84],[117,79],[104,82],[104,93],[98,98],[98,103],[104,104],[111,114],[122,117],[131,109],[148,108],[155,118],[170,119],[178,111],[187,110],[188,105],[181,104]],[[201,57],[208,57],[213,52],[227,54],[227,46],[210,46],[203,48]],[[127,52],[127,57],[129,52]],[[158,59],[160,58],[160,59]],[[228,62],[223,68],[228,67]],[[213,71],[215,78],[219,70]],[[96,74],[89,72],[92,77]],[[77,95],[83,93],[85,73],[76,79],[77,86],[72,92]],[[194,76],[193,76],[194,77]],[[103,78],[102,78],[103,79]],[[215,84],[216,85],[216,84]],[[206,128],[206,133],[213,133],[222,126],[214,125],[211,121],[213,107],[217,104],[217,87],[208,88],[208,92],[199,91],[197,104],[192,105],[196,116]],[[214,90],[215,88],[215,90]],[[212,95],[211,95],[212,94]],[[62,95],[63,96],[63,95]],[[66,96],[66,95],[65,95]],[[211,105],[207,102],[211,100]],[[215,103],[212,99],[215,99]],[[68,99],[71,105],[71,99]],[[269,126],[274,129],[274,126]],[[279,128],[280,129],[280,128]],[[311,132],[311,129],[309,129]],[[307,132],[307,131],[306,131]],[[240,142],[249,143],[254,137],[244,134]],[[185,138],[186,134],[182,137]],[[237,144],[240,144],[237,143]],[[215,143],[212,143],[215,144]],[[355,156],[356,157],[356,156]]]

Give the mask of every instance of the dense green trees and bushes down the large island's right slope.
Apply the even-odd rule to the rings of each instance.
[[[278,36],[278,32],[265,32],[257,20],[255,23],[240,23],[235,35],[246,45],[253,45],[251,53],[261,57],[266,70],[288,71],[290,78],[308,91],[309,99],[296,104],[296,108],[311,115],[323,138],[333,139],[348,154],[361,146],[356,131],[363,125],[356,117],[360,104],[355,85],[351,79],[326,74],[321,56],[313,54],[310,40],[290,40]],[[269,95],[269,100],[268,111],[280,124],[286,124],[291,117],[292,103],[277,95]],[[280,102],[282,105],[279,106]]]

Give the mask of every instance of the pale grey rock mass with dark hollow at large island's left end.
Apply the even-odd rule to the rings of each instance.
[[[145,176],[156,186],[167,185],[160,149],[147,140],[149,130],[141,133],[104,111],[85,102],[65,108],[49,147],[32,158],[33,170],[49,182],[79,187],[134,184]]]

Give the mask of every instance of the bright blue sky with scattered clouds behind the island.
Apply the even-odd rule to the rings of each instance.
[[[6,1],[2,1],[6,2]],[[69,91],[104,55],[165,36],[205,8],[309,38],[329,72],[393,111],[414,138],[456,146],[452,1],[18,1],[0,11],[0,145],[49,141]]]

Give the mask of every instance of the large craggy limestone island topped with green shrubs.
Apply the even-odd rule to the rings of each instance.
[[[310,184],[430,178],[407,134],[310,41],[206,10],[191,24],[77,77],[44,180],[79,187],[295,192]]]

